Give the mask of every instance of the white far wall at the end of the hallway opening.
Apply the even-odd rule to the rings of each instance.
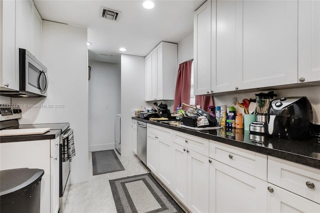
[[[120,64],[89,60],[89,66],[89,151],[113,149],[115,114],[121,110]]]

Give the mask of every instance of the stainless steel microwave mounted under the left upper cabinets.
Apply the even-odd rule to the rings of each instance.
[[[46,67],[28,50],[19,48],[19,93],[46,96],[47,87]]]

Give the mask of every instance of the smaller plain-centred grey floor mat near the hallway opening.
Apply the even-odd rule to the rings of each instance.
[[[114,150],[92,151],[93,175],[124,170]]]

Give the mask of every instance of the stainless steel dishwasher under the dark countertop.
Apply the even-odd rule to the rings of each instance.
[[[138,158],[146,165],[146,123],[137,121],[136,129],[136,154]]]

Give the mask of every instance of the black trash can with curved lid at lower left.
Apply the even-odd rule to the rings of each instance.
[[[15,168],[0,171],[0,212],[40,212],[43,169]]]

